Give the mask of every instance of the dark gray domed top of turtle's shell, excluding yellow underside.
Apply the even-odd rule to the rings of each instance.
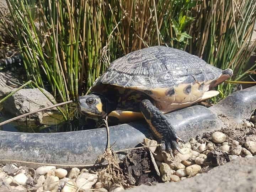
[[[139,90],[172,87],[181,83],[207,82],[222,74],[218,69],[185,51],[154,46],[114,60],[97,83]]]

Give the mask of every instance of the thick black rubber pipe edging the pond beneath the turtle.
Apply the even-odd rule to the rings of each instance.
[[[256,108],[256,86],[235,92],[206,108],[191,106],[167,114],[177,135],[184,140],[205,129],[222,126],[218,114],[241,122]],[[144,121],[110,127],[110,144],[114,150],[132,148],[151,137]],[[22,160],[47,164],[93,164],[107,146],[105,128],[63,133],[18,133],[0,131],[0,159]]]

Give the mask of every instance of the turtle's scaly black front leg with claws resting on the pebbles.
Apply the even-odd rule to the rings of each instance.
[[[182,139],[177,136],[174,128],[171,126],[171,122],[165,114],[147,99],[140,103],[140,111],[158,142],[162,144],[161,150],[167,151],[171,155],[172,150],[177,150],[181,153],[178,141],[182,141]]]

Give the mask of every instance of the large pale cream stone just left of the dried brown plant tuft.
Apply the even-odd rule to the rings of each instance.
[[[76,186],[78,188],[81,188],[81,190],[89,191],[97,182],[98,176],[96,174],[90,174],[88,172],[82,172],[78,177],[76,178]]]

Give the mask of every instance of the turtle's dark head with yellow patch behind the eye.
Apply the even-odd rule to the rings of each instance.
[[[113,111],[113,106],[112,102],[100,94],[85,95],[78,99],[79,112],[90,117],[104,118]]]

